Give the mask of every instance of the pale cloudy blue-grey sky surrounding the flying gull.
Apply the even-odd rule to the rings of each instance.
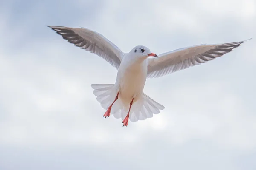
[[[90,86],[114,83],[116,69],[47,25],[93,29],[125,52],[253,39],[148,79],[166,108],[122,127]],[[255,170],[255,30],[255,0],[2,0],[0,169]]]

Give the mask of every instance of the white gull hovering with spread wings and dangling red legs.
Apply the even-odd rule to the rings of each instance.
[[[103,117],[112,114],[116,119],[121,118],[122,127],[127,127],[129,120],[145,120],[165,108],[143,92],[146,79],[211,61],[247,41],[193,45],[159,55],[143,45],[137,45],[125,53],[102,34],[89,28],[48,27],[63,39],[96,54],[117,69],[114,84],[91,84],[91,87],[96,100],[105,109]]]

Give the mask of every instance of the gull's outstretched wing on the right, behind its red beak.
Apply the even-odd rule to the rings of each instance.
[[[148,59],[147,77],[160,77],[213,60],[232,51],[245,41],[215,45],[194,45],[160,54],[158,58]]]

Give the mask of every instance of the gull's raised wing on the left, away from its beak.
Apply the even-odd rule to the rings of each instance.
[[[48,26],[68,42],[86,51],[97,54],[116,69],[119,68],[123,52],[103,35],[87,28]]]

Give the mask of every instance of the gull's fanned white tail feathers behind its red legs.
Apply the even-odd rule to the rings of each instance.
[[[100,103],[102,108],[107,110],[117,95],[114,84],[92,84],[91,86],[94,89],[93,94],[97,97],[97,101]],[[143,93],[142,97],[131,106],[129,119],[131,122],[145,120],[153,117],[153,114],[160,113],[159,110],[163,110],[164,108],[165,107],[163,105],[160,105]],[[113,114],[116,119],[125,119],[127,113],[128,107],[125,107],[121,100],[116,100],[112,105],[111,114]]]

